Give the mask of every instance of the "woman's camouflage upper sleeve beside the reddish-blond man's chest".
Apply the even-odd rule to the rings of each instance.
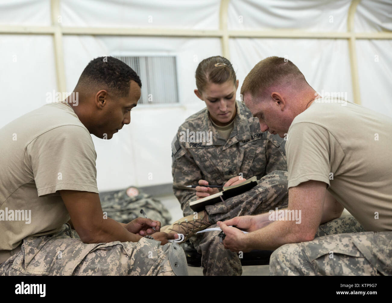
[[[287,162],[285,155],[285,141],[278,135],[267,133],[267,143],[265,146],[265,174],[268,175],[274,170],[287,171]]]

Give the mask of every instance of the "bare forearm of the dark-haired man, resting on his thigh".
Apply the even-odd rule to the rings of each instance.
[[[102,219],[101,224],[87,237],[81,237],[84,243],[108,243],[113,241],[138,242],[142,236],[135,235],[111,218]]]

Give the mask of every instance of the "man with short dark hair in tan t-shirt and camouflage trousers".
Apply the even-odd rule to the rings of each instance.
[[[64,102],[0,129],[0,275],[187,274],[183,250],[166,244],[178,235],[151,219],[118,223],[100,204],[90,134],[129,124],[141,86],[127,64],[99,57]]]

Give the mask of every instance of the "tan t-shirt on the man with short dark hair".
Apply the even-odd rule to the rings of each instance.
[[[60,230],[70,218],[58,190],[98,193],[93,140],[66,104],[13,120],[0,142],[0,250]]]

